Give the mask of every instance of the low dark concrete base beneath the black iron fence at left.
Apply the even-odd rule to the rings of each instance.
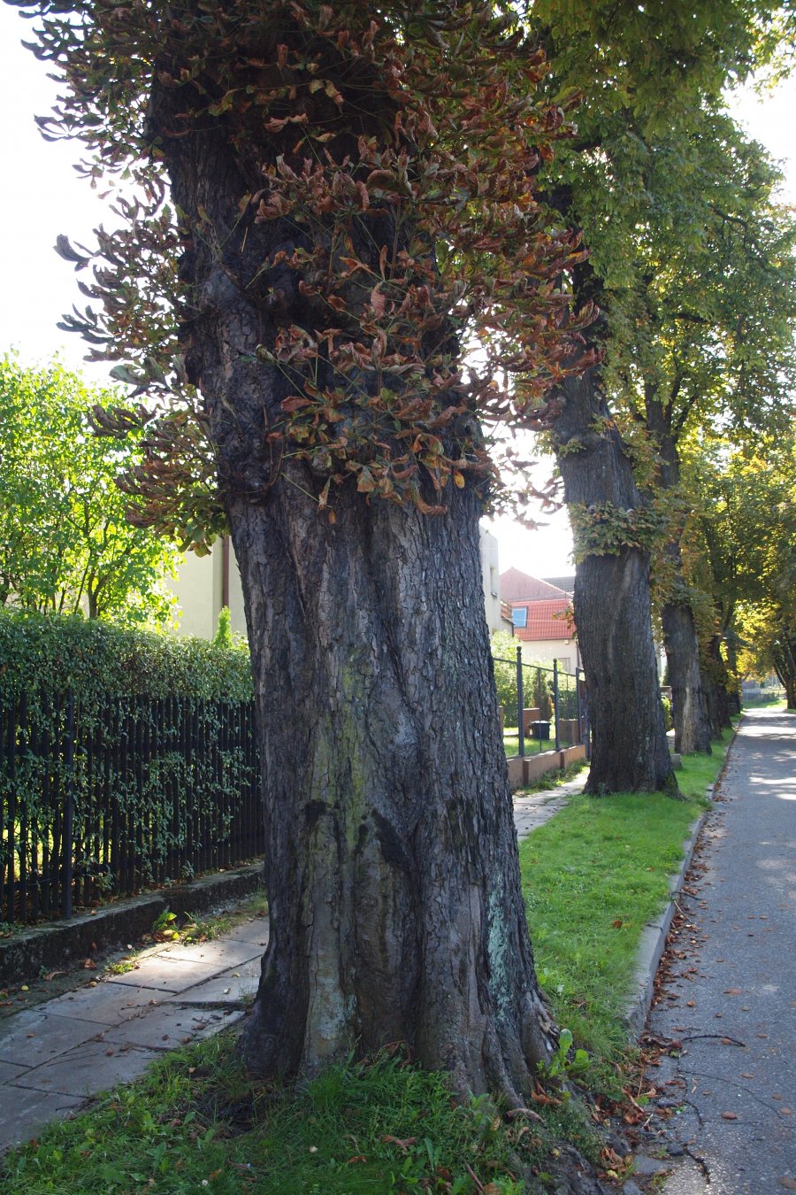
[[[0,987],[37,979],[42,970],[74,966],[80,958],[99,957],[127,945],[152,930],[169,909],[183,918],[221,909],[263,888],[263,864],[203,876],[190,884],[161,888],[81,913],[68,921],[23,930],[0,940]]]

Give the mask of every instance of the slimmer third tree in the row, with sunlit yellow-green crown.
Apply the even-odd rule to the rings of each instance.
[[[792,417],[796,223],[773,197],[780,176],[726,116],[703,112],[687,137],[658,139],[643,158],[654,202],[637,222],[633,283],[610,302],[621,313],[611,390],[650,437],[649,485],[668,516],[659,593],[675,747],[709,750],[709,692],[681,566],[680,445],[722,427],[748,442]]]

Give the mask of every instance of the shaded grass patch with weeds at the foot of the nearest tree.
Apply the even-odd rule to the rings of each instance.
[[[555,1140],[594,1151],[576,1103],[544,1113],[531,1133],[507,1127],[486,1097],[456,1105],[444,1076],[409,1066],[400,1052],[283,1090],[252,1080],[226,1032],[175,1050],[12,1152],[0,1191],[520,1195],[516,1172],[538,1172]]]

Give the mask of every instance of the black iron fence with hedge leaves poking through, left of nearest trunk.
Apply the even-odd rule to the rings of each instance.
[[[252,703],[0,698],[0,920],[234,866],[265,831]]]

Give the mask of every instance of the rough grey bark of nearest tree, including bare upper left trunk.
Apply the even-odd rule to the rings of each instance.
[[[183,263],[185,361],[241,569],[267,823],[270,940],[246,1060],[306,1074],[405,1041],[459,1092],[522,1104],[549,1021],[519,880],[476,488],[451,485],[446,513],[428,516],[350,483],[331,522],[322,478],[290,459],[290,442],[274,462],[267,434],[296,382],[257,350],[314,317],[295,271],[263,263],[307,233],[241,219],[272,146],[243,159],[217,123],[171,136],[181,103],[179,91],[156,93],[150,121],[175,202],[191,227],[212,229]],[[356,137],[346,145],[356,153]],[[397,233],[388,215],[375,228],[381,244],[358,251],[378,263]]]

